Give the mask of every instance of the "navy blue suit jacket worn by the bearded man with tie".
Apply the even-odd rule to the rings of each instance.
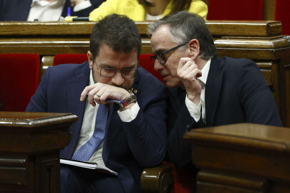
[[[133,89],[140,107],[131,122],[122,122],[118,104],[110,110],[104,138],[105,165],[118,172],[126,192],[141,192],[140,178],[144,167],[159,164],[166,153],[166,86],[138,67]],[[47,68],[26,111],[73,113],[79,117],[71,127],[70,144],[60,152],[70,159],[75,150],[83,122],[85,101],[80,94],[89,83],[89,63],[62,64]]]

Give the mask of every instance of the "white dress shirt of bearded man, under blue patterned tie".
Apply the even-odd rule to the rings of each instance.
[[[90,72],[90,85],[95,84],[93,80],[92,71]],[[109,103],[109,111],[112,108],[113,103]],[[82,146],[84,145],[92,136],[95,130],[95,122],[96,122],[96,116],[97,111],[99,108],[99,104],[96,103],[96,106],[93,107],[88,100],[86,100],[86,107],[84,112],[84,119],[83,123],[81,125],[81,132],[79,134],[77,147],[75,148],[74,153]],[[136,102],[131,109],[127,109],[125,111],[118,110],[117,113],[120,116],[120,119],[123,122],[130,122],[134,120],[138,114],[140,107],[138,103]],[[110,121],[110,120],[108,120]],[[101,145],[96,149],[96,151],[93,153],[93,155],[90,157],[89,161],[96,162],[99,165],[105,166],[102,153],[103,153],[103,145],[104,142],[101,143]]]

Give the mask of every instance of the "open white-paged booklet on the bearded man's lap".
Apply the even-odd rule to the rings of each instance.
[[[116,176],[118,175],[117,172],[107,168],[106,166],[98,165],[95,162],[60,159],[60,163],[73,165],[73,166],[77,166],[77,167],[84,167],[84,168],[88,168],[88,169],[95,169],[97,172],[100,172],[100,173],[114,174]]]

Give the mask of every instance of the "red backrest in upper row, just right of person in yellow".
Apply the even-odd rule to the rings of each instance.
[[[282,0],[283,1],[283,0]],[[209,20],[262,20],[264,0],[209,0]]]

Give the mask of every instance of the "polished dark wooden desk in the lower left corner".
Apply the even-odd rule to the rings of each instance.
[[[70,113],[0,112],[0,192],[60,193],[59,150]]]

